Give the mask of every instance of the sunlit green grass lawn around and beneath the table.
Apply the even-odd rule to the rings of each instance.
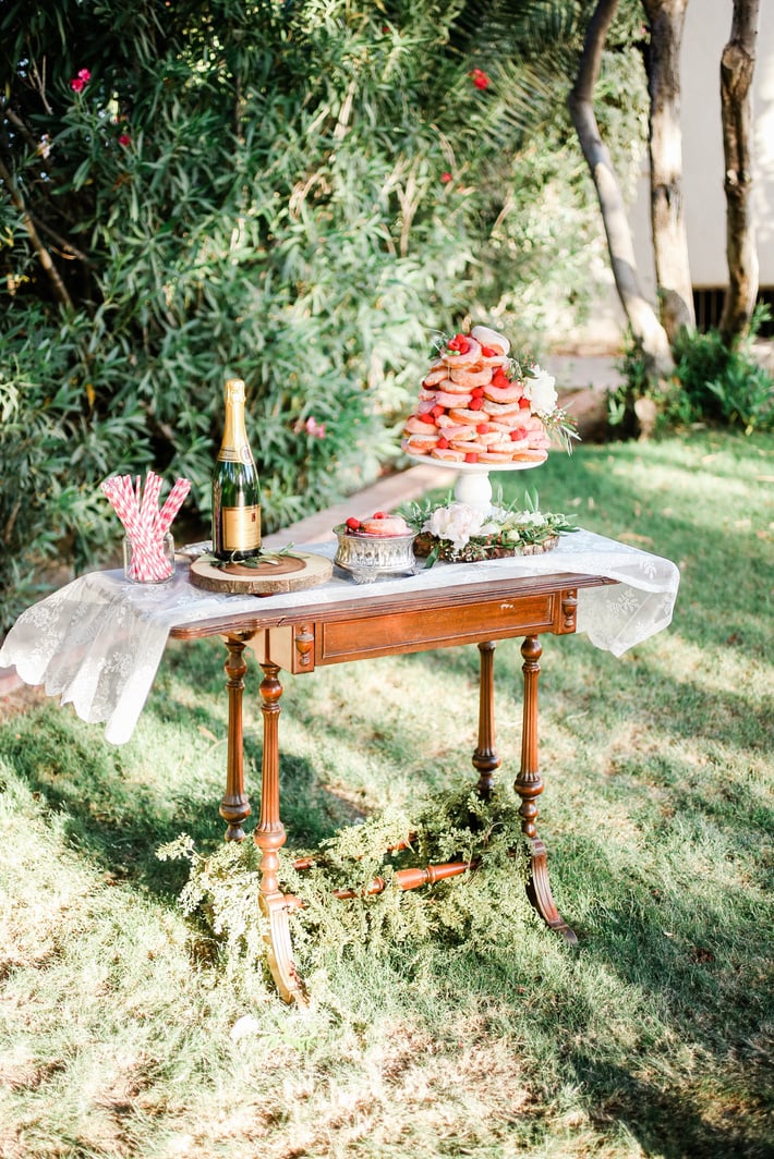
[[[302,936],[314,1003],[285,1007],[157,857],[224,829],[225,653],[173,644],[122,748],[52,701],[0,713],[2,1159],[774,1154],[774,439],[581,446],[495,482],[526,478],[682,574],[671,629],[621,659],[542,637],[538,830],[579,948],[515,873],[479,873],[405,895],[372,952],[350,940],[364,903],[339,942],[335,917]],[[472,781],[477,659],[288,677],[289,847]],[[499,644],[506,794],[520,668]],[[256,695],[246,712],[255,816]]]

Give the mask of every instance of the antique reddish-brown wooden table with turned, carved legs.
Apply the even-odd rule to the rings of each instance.
[[[545,846],[537,836],[536,800],[543,792],[538,767],[537,680],[543,633],[567,635],[576,630],[579,588],[614,583],[603,576],[557,574],[440,586],[379,596],[378,585],[367,599],[341,599],[316,606],[314,592],[301,607],[262,608],[219,615],[197,624],[173,627],[171,635],[193,640],[219,635],[225,641],[229,693],[229,750],[226,789],[220,815],[227,822],[226,839],[243,840],[243,823],[251,807],[245,793],[243,752],[243,692],[247,672],[244,651],[255,654],[262,670],[260,684],[263,720],[261,816],[254,840],[261,850],[260,905],[268,919],[267,948],[272,974],[287,1001],[303,1001],[304,985],[296,969],[290,941],[291,898],[279,880],[279,851],[285,831],[280,816],[280,671],[294,676],[343,662],[396,656],[434,648],[475,643],[480,655],[478,743],[472,764],[478,789],[493,785],[500,758],[494,748],[495,641],[523,636],[523,731],[515,790],[521,797],[522,831],[530,848],[528,896],[544,921],[569,942],[577,938],[562,918],[551,896]]]

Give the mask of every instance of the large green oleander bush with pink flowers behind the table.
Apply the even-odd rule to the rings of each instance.
[[[578,14],[525,3],[506,44],[497,3],[32,7],[0,13],[0,625],[115,542],[113,471],[185,474],[207,525],[230,374],[268,530],[375,478],[433,333],[475,308],[536,342],[598,231]]]

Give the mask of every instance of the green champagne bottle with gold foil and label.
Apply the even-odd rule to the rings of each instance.
[[[212,475],[212,553],[238,563],[261,551],[260,482],[245,430],[241,379],[226,381],[224,398],[225,427]]]

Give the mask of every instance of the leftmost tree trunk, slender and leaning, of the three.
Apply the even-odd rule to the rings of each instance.
[[[598,0],[586,31],[578,75],[570,93],[570,112],[596,188],[621,305],[635,342],[650,367],[659,378],[666,378],[674,369],[670,342],[653,307],[642,292],[623,194],[594,116],[594,87],[599,78],[605,38],[617,6],[619,0]]]

